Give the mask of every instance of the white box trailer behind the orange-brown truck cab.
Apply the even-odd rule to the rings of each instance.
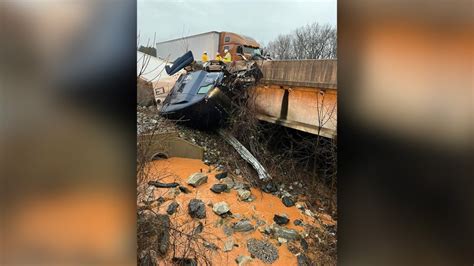
[[[210,31],[159,42],[156,44],[156,55],[163,60],[173,62],[187,51],[192,51],[194,60],[201,61],[201,55],[206,51],[209,58],[212,59],[219,49],[219,38],[219,32]]]

